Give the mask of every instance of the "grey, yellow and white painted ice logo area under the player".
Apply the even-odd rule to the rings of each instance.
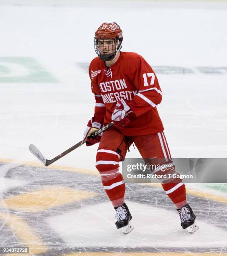
[[[17,180],[18,186],[5,188],[0,201],[3,246],[26,245],[41,255],[227,251],[226,202],[215,199],[226,198],[224,193],[213,192],[210,199],[211,189],[187,186],[199,224],[190,235],[181,228],[178,213],[161,187],[127,184],[125,199],[134,230],[123,235],[115,228],[115,211],[95,174],[20,165],[9,169],[5,179]]]

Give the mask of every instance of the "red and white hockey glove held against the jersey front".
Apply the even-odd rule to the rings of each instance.
[[[112,120],[115,126],[127,126],[129,122],[135,118],[135,113],[130,110],[130,107],[125,100],[121,99],[120,101],[117,101],[115,110],[112,113]]]

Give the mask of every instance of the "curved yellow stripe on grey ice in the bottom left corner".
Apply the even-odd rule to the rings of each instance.
[[[48,247],[43,245],[33,229],[22,218],[13,214],[0,213],[0,219],[6,221],[13,234],[23,243],[23,246],[29,247],[29,254],[43,253],[48,250]]]

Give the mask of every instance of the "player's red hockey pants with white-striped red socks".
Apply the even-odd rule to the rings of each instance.
[[[125,184],[122,174],[119,172],[119,161],[125,158],[128,146],[133,142],[143,159],[151,159],[151,164],[165,164],[171,162],[171,154],[163,132],[125,137],[115,128],[110,128],[105,131],[97,150],[96,168],[101,175],[103,187],[115,207],[124,202],[125,195]],[[173,172],[175,172],[175,169]],[[173,179],[171,179],[171,181],[172,180]],[[170,183],[166,180],[162,182],[162,187],[174,204],[186,202],[185,185],[182,183],[181,179],[175,179],[174,183]]]

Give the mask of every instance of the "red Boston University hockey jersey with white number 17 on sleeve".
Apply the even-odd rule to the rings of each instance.
[[[95,97],[95,122],[110,123],[117,100],[123,98],[129,101],[137,116],[127,127],[117,128],[124,135],[147,135],[164,130],[156,108],[162,99],[161,88],[153,69],[142,56],[120,52],[109,69],[96,57],[89,66],[89,76]]]

